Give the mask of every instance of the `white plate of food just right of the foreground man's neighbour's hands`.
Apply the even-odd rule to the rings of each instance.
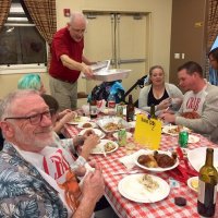
[[[109,154],[117,150],[119,145],[110,140],[100,140],[100,143],[96,145],[90,152],[93,155]]]

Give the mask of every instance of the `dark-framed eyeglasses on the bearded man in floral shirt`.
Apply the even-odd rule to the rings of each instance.
[[[44,111],[44,112],[40,112],[40,113],[33,114],[33,116],[28,116],[28,117],[10,117],[10,118],[4,118],[4,121],[5,120],[11,120],[11,119],[17,119],[17,120],[25,119],[25,120],[29,120],[31,124],[37,125],[37,124],[39,124],[41,122],[44,116],[46,118],[48,118],[48,119],[51,119],[51,112],[52,112],[52,109]]]

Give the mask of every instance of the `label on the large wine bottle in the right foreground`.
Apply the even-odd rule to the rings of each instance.
[[[217,185],[205,183],[199,180],[197,198],[202,204],[215,204],[217,198]]]

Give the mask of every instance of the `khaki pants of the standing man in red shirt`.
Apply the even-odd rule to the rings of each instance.
[[[58,100],[60,111],[77,108],[77,82],[68,83],[49,76],[51,95]]]

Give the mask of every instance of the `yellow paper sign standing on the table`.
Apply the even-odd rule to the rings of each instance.
[[[146,114],[136,116],[134,140],[149,149],[159,149],[161,138],[161,121],[148,119]]]

